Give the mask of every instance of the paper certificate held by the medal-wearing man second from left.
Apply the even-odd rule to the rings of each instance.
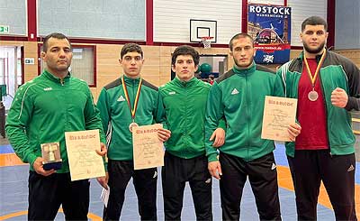
[[[162,124],[133,127],[134,170],[164,166],[164,143],[157,137],[162,127]]]

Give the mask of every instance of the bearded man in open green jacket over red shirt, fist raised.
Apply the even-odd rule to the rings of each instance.
[[[320,182],[337,220],[356,220],[356,137],[349,111],[360,110],[360,71],[325,47],[328,23],[319,16],[302,22],[302,54],[278,70],[279,96],[298,99],[302,133],[286,143],[299,220],[316,220]]]

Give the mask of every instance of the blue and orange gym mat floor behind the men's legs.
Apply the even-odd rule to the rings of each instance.
[[[356,150],[360,151],[360,150]],[[293,184],[290,171],[284,155],[284,145],[277,143],[275,150],[275,159],[278,164],[278,181],[280,203],[283,220],[296,220],[295,199]],[[358,161],[360,160],[357,158]],[[23,164],[14,155],[12,147],[5,139],[0,138],[0,220],[25,220],[27,214],[27,179],[29,166]],[[160,174],[159,174],[160,175]],[[157,180],[157,217],[163,220],[163,201],[161,195],[160,177]],[[101,220],[103,214],[103,204],[100,200],[101,188],[96,180],[91,180],[91,202],[90,202],[90,220]],[[188,187],[184,193],[183,220],[195,220],[193,212],[193,203],[191,192]],[[213,216],[214,220],[220,220],[220,193],[219,183],[213,180]],[[360,219],[360,162],[356,162],[356,211],[357,218]],[[320,191],[318,205],[319,220],[335,220],[333,211],[329,204],[329,198],[325,189]],[[61,211],[56,220],[64,220]],[[137,198],[130,181],[126,192],[126,200],[122,208],[121,220],[139,220]],[[241,220],[258,220],[254,196],[251,189],[246,185],[241,202]]]

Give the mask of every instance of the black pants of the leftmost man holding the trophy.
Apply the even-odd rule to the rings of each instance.
[[[29,220],[54,220],[62,205],[66,220],[87,220],[89,180],[71,181],[70,173],[54,173],[44,177],[29,174]]]

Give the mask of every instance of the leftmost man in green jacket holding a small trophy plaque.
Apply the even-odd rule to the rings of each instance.
[[[6,119],[14,152],[30,164],[29,220],[53,220],[62,204],[67,220],[87,220],[89,180],[71,181],[65,132],[100,130],[103,126],[86,82],[68,72],[72,50],[61,33],[44,38],[41,59],[47,64],[37,78],[20,87]],[[62,167],[44,170],[42,143],[59,143]],[[106,153],[102,143],[100,155]],[[104,178],[98,179],[104,185]]]

